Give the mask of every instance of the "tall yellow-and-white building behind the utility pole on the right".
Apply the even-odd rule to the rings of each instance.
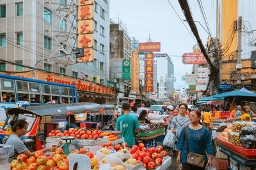
[[[253,8],[256,6],[256,1],[219,0],[217,2],[218,8],[216,37],[220,41],[222,52],[222,58],[220,62],[220,83],[227,81],[233,83],[236,86],[234,74],[236,73],[237,67],[237,20],[239,17],[242,17],[241,73],[251,74],[253,69],[251,69],[252,62],[250,57],[252,55],[252,51],[256,50],[256,41],[252,36],[253,30],[256,29],[256,21],[252,17],[256,15],[256,11]],[[255,89],[255,80],[256,78],[248,78],[246,81],[242,81],[242,85]]]

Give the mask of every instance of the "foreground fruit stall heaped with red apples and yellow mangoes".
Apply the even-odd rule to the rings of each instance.
[[[8,165],[12,170],[165,170],[171,164],[172,158],[168,157],[162,146],[147,149],[143,143],[131,148],[127,147],[127,143],[114,147],[107,143],[94,146],[90,150],[82,147],[73,150],[70,154],[65,154],[63,148],[60,147],[56,148],[55,152],[36,151],[35,155],[29,157],[20,154]]]

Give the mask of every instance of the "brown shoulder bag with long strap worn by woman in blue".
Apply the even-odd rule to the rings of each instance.
[[[205,155],[188,152],[187,132],[188,132],[188,125],[185,127],[186,148],[187,148],[187,153],[188,153],[187,162],[188,162],[188,164],[191,164],[192,166],[204,167]]]

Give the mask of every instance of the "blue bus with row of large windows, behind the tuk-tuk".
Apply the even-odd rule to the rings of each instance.
[[[0,74],[0,103],[28,101],[30,104],[77,103],[75,85]]]

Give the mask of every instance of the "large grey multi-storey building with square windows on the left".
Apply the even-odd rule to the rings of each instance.
[[[100,84],[106,85],[109,80],[109,2],[95,0],[93,7],[95,60],[77,63],[74,55],[77,48],[76,0],[0,1],[0,71],[21,72],[35,67],[56,80],[77,81],[84,87],[89,83],[100,88],[103,87]],[[32,78],[32,75],[33,71],[26,77]],[[45,76],[36,73],[35,79],[45,80]],[[79,101],[109,101],[110,98],[107,100],[100,94],[106,92],[81,90]]]

